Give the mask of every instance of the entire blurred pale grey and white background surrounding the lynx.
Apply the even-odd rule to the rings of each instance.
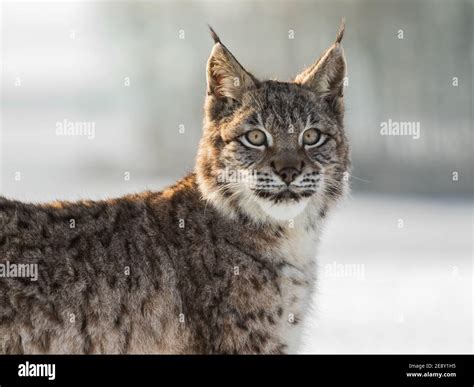
[[[207,23],[257,77],[290,80],[345,16],[352,194],[324,234],[302,352],[473,351],[471,1],[0,10],[0,195],[33,202],[158,190],[193,169]],[[390,122],[419,138],[381,135]]]

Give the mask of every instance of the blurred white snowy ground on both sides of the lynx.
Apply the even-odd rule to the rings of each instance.
[[[2,194],[99,199],[161,189],[173,180],[25,176],[4,179]],[[302,352],[471,353],[472,208],[448,199],[348,198],[331,214],[321,242]]]

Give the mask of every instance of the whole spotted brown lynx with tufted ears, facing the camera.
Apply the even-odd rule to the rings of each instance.
[[[343,31],[277,82],[211,30],[196,168],[163,192],[0,198],[0,353],[296,352],[350,167]]]

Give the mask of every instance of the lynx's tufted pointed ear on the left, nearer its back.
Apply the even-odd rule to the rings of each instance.
[[[207,61],[207,94],[217,98],[240,100],[245,90],[258,85],[257,79],[247,72],[224,46],[214,30],[215,45]]]

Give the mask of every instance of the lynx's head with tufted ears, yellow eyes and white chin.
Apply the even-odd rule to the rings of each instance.
[[[344,193],[350,161],[343,32],[344,24],[335,43],[293,81],[278,82],[246,71],[211,29],[196,167],[205,199],[228,214],[278,222],[324,211]]]

